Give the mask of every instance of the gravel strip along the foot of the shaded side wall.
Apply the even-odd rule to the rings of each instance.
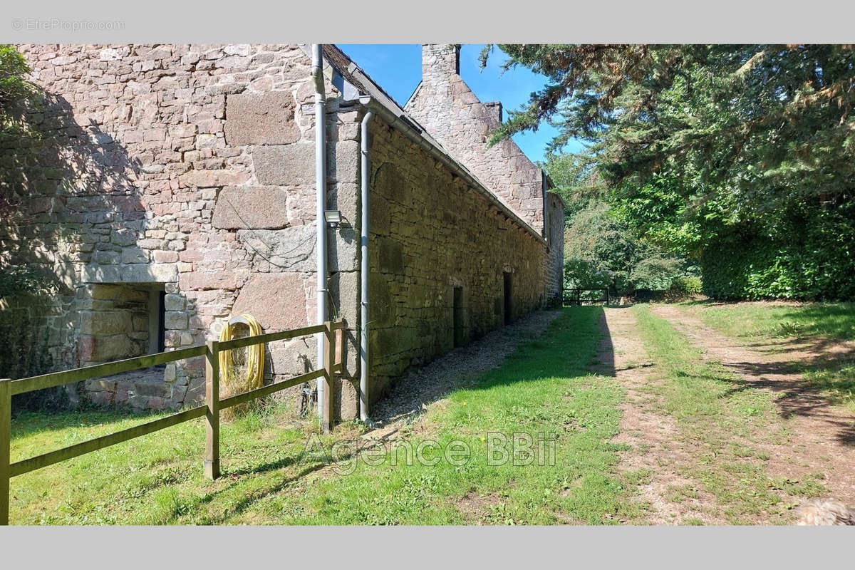
[[[519,344],[540,337],[559,314],[561,311],[543,310],[523,315],[508,326],[405,373],[371,409],[375,426],[386,432],[392,426],[416,420],[428,404],[456,388],[472,385],[482,373],[500,366]]]

